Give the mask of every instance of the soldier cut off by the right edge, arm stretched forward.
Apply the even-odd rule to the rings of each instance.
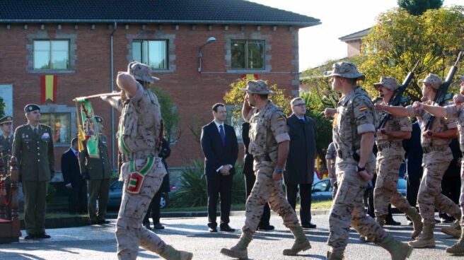
[[[421,102],[414,102],[414,108],[417,110],[426,110],[435,117],[446,117],[449,119],[458,119],[459,141],[460,150],[464,152],[464,76],[460,76],[460,95],[455,95],[453,98],[454,105],[447,105],[446,107],[426,105]],[[454,223],[451,228],[443,228],[442,231],[449,235],[460,235],[460,239],[456,244],[446,248],[449,254],[464,254],[464,160],[461,161],[461,187],[460,187],[460,210],[461,218]],[[460,225],[459,225],[460,224]]]

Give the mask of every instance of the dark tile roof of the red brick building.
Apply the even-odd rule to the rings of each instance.
[[[243,0],[1,0],[0,23],[296,25],[320,20]]]

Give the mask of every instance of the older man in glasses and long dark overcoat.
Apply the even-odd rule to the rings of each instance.
[[[306,117],[303,98],[290,102],[293,114],[286,120],[289,126],[290,149],[286,159],[284,183],[286,199],[296,208],[296,194],[300,192],[300,220],[303,228],[315,228],[311,223],[311,189],[314,180],[315,123]]]

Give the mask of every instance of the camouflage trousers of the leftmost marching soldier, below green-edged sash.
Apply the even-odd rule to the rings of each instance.
[[[136,160],[135,165],[140,169],[146,160]],[[127,176],[130,173],[129,162],[122,165],[122,201],[120,212],[116,222],[117,258],[123,260],[137,259],[139,246],[151,252],[159,254],[166,244],[155,233],[142,226],[142,221],[150,206],[151,199],[161,187],[166,169],[160,158],[156,158],[153,168],[147,172],[139,194],[131,194],[126,191]]]

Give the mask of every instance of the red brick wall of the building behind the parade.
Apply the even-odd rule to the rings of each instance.
[[[25,122],[23,107],[34,102],[40,104],[40,76],[42,74],[28,73],[28,50],[26,45],[31,41],[28,35],[40,32],[40,25],[30,24],[24,29],[23,24],[11,24],[7,30],[5,24],[0,24],[0,85],[13,85],[13,117],[14,126]],[[182,135],[177,143],[173,144],[172,153],[168,159],[170,167],[185,166],[189,160],[202,158],[199,143],[195,141],[190,132],[192,119],[199,119],[201,124],[207,124],[212,119],[210,107],[215,102],[222,102],[228,86],[241,73],[226,72],[226,37],[225,35],[240,34],[243,40],[252,35],[260,34],[267,37],[266,45],[271,49],[267,52],[271,55],[270,73],[258,73],[260,78],[277,83],[281,87],[298,90],[298,37],[297,31],[291,31],[286,26],[279,26],[276,31],[271,26],[261,26],[257,31],[256,26],[245,26],[242,31],[238,26],[231,25],[228,30],[224,26],[214,25],[212,30],[207,30],[206,25],[197,25],[192,30],[192,25],[180,25],[175,30],[173,25],[163,25],[159,30],[158,25],[146,25],[146,31],[141,25],[129,25],[126,30],[124,25],[118,25],[114,34],[114,65],[115,76],[117,71],[125,71],[127,60],[127,34],[156,33],[175,34],[175,60],[170,64],[175,65],[172,73],[156,73],[161,78],[156,85],[166,90],[171,95],[180,112],[180,129]],[[77,35],[76,68],[75,73],[57,75],[57,100],[59,105],[74,107],[71,100],[81,95],[93,95],[110,91],[110,33],[112,30],[108,24],[96,24],[95,30],[91,30],[90,24],[79,24],[79,29],[74,24],[63,24],[62,30],[57,30],[56,24],[46,24],[45,31],[50,39],[54,39],[56,32]],[[203,48],[202,71],[198,73],[197,52],[208,37],[216,37],[216,42]],[[293,81],[293,82],[292,82]],[[292,83],[296,82],[296,85]],[[115,85],[117,89],[117,86]],[[110,137],[110,107],[100,100],[93,100],[95,113],[105,119],[105,129]],[[119,120],[119,112],[115,112],[115,127]],[[108,140],[109,148],[110,140]],[[57,158],[57,170],[59,159],[66,148],[55,150]],[[110,153],[111,150],[110,150]],[[241,157],[240,157],[241,158]]]

